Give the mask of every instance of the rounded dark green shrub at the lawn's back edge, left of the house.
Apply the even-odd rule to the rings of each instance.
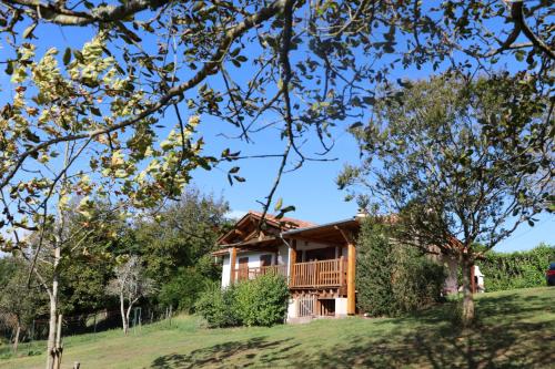
[[[179,268],[160,288],[158,300],[163,306],[193,312],[195,301],[209,283],[210,279],[193,267]]]

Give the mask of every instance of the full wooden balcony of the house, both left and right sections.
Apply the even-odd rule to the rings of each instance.
[[[347,260],[337,259],[295,263],[289,276],[291,289],[340,288],[346,286]],[[233,269],[236,281],[254,279],[262,275],[280,275],[287,277],[286,265],[272,265],[255,268],[240,267]]]

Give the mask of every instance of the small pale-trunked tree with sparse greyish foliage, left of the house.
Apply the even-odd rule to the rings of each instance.
[[[155,288],[152,279],[145,277],[142,260],[135,255],[115,267],[114,274],[115,278],[110,281],[107,291],[120,299],[121,322],[123,332],[127,335],[129,331],[129,316],[133,305],[141,297],[151,295]]]

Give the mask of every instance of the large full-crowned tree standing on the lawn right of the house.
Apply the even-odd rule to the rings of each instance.
[[[397,214],[398,239],[460,262],[465,324],[474,318],[476,258],[553,209],[554,101],[537,92],[534,81],[506,74],[405,81],[353,131],[362,162],[340,185]]]

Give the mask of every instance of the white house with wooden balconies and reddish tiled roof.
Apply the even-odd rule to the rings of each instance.
[[[305,317],[347,316],[356,312],[355,239],[364,214],[316,225],[310,222],[249,212],[218,239],[223,258],[222,287],[279,274],[287,279],[291,299],[287,321]],[[446,287],[456,290],[456,263]],[[452,268],[455,268],[454,270]]]

